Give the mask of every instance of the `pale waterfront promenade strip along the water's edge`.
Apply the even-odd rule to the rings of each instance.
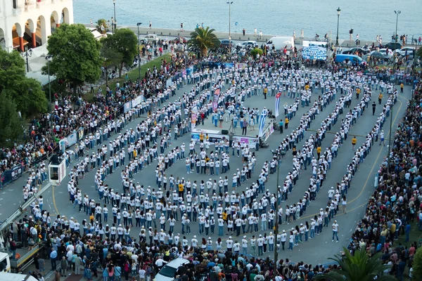
[[[85,24],[82,23],[82,25],[85,25],[86,27],[96,27],[96,24],[94,22],[93,25],[91,24]],[[132,30],[133,32],[135,32],[135,34],[138,33],[138,27],[136,26],[131,26],[131,25],[117,25],[117,28],[129,28],[129,30]],[[171,29],[171,28],[161,28],[161,27],[152,27],[151,29],[149,27],[139,27],[139,34],[140,35],[146,35],[146,34],[157,34],[160,37],[166,37],[166,36],[170,36],[170,37],[190,37],[191,32],[193,32],[193,30],[184,30],[184,31],[180,31],[177,29]],[[229,39],[229,32],[219,32],[219,31],[215,31],[215,34],[217,35],[218,39]],[[262,34],[262,39],[257,40],[257,38],[254,36],[253,33],[246,33],[245,36],[243,36],[242,32],[231,32],[231,39],[234,41],[248,41],[248,40],[253,40],[253,41],[257,41],[257,42],[261,42],[264,43],[266,41],[268,41],[271,37],[274,36],[290,36],[292,37],[293,34],[290,35],[282,35],[282,34]],[[320,42],[324,42],[324,34],[320,34],[319,35],[319,40]],[[333,36],[333,35],[332,35]],[[316,41],[314,37],[300,37],[300,34],[296,34],[296,38],[295,38],[295,44],[302,46],[303,41]],[[335,34],[334,37],[331,37],[331,42],[333,44],[335,44]],[[388,43],[389,41],[385,41],[383,40],[383,43]],[[356,43],[354,41],[354,39],[352,39],[352,41],[349,41],[349,39],[338,39],[338,43],[340,44],[340,46],[346,47],[346,48],[353,48],[356,47]],[[361,40],[360,41],[360,45],[359,46],[364,46],[365,44],[368,44],[369,46],[372,45],[372,43],[376,43],[376,41],[364,41]],[[407,45],[409,46],[409,45]]]

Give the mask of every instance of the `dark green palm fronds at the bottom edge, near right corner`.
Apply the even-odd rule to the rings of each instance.
[[[373,281],[373,277],[378,275],[377,281],[390,281],[397,279],[392,275],[381,275],[389,266],[383,265],[381,254],[369,257],[365,249],[355,251],[354,256],[346,248],[343,248],[345,256],[335,255],[330,258],[337,261],[340,268],[330,270],[329,273],[319,274],[314,277],[315,280],[332,281]]]

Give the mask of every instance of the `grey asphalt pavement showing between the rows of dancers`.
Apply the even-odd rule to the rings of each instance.
[[[175,98],[179,98],[182,93],[185,91],[188,91],[191,87],[185,86],[185,88],[177,91],[177,95],[170,98],[168,102],[174,101]],[[339,96],[339,95],[338,95]],[[375,91],[373,92],[373,100],[376,100],[376,96],[378,96],[378,93]],[[318,97],[318,94],[313,93],[312,94],[312,102]],[[393,128],[397,126],[397,124],[400,122],[401,117],[404,115],[404,111],[407,106],[407,99],[411,98],[411,88],[406,86],[404,88],[404,94],[399,95],[399,98],[397,100],[397,104],[395,107],[393,107]],[[383,104],[385,103],[386,97],[383,99]],[[338,100],[338,97],[337,99]],[[281,105],[284,103],[288,103],[289,105],[293,103],[293,99],[282,97],[281,98]],[[312,103],[311,103],[312,104]],[[265,106],[269,109],[273,109],[274,107],[274,97],[269,97],[267,100],[264,100],[263,96],[254,96],[252,98],[246,99],[244,103],[245,107],[253,106],[258,107],[260,110]],[[321,120],[325,119],[328,114],[330,114],[333,111],[335,103],[331,103],[326,107],[326,109],[321,112],[319,115],[316,115],[316,119],[314,122],[312,122],[311,127],[309,131],[305,133],[305,140],[309,138],[311,133],[314,133],[312,130],[319,129],[319,126],[321,126]],[[357,105],[357,100],[355,98],[352,99],[352,105],[350,106],[350,109]],[[328,200],[328,189],[331,188],[331,186],[335,186],[335,183],[340,181],[341,177],[346,171],[347,164],[350,163],[350,159],[352,159],[353,156],[353,150],[351,145],[351,138],[352,136],[357,136],[357,147],[359,145],[362,145],[364,142],[364,136],[366,136],[366,133],[369,133],[369,131],[372,129],[373,125],[376,122],[376,117],[381,112],[382,105],[378,105],[376,108],[376,115],[372,116],[371,107],[369,107],[365,112],[364,115],[358,119],[357,124],[352,126],[350,129],[349,136],[350,138],[345,141],[345,144],[340,148],[338,157],[333,159],[331,170],[328,171],[326,181],[324,181],[324,187],[319,191],[317,194],[316,200],[312,201],[309,207],[307,208],[307,213],[302,216],[298,221],[295,221],[293,223],[290,223],[289,226],[286,225],[286,223],[283,223],[279,230],[286,230],[286,232],[290,229],[295,227],[296,225],[299,225],[300,223],[305,223],[305,221],[310,221],[310,218],[314,217],[314,214],[316,214],[319,211],[319,208],[325,207],[326,202]],[[255,173],[252,174],[252,179],[249,181],[246,181],[241,185],[240,188],[236,190],[236,192],[241,192],[245,190],[245,188],[249,187],[252,181],[257,180],[257,176],[259,173],[259,170],[262,167],[262,164],[271,159],[272,154],[270,149],[274,149],[279,145],[280,141],[286,136],[287,133],[290,133],[298,126],[298,123],[300,121],[300,117],[302,114],[307,112],[309,110],[309,107],[300,107],[298,112],[296,113],[296,116],[293,117],[293,119],[289,123],[289,129],[284,130],[284,133],[280,134],[279,131],[274,131],[274,133],[269,137],[268,143],[269,148],[267,149],[260,149],[255,154],[257,155],[257,164],[255,166]],[[343,115],[340,115],[339,121],[337,124],[335,124],[330,132],[337,132],[340,128],[340,120],[345,115],[345,112],[347,112],[347,109],[344,110]],[[278,119],[283,117],[283,115],[279,116]],[[139,119],[135,119],[134,122],[131,122],[128,124],[124,129],[134,128],[136,127],[136,124],[139,122]],[[207,119],[206,122],[211,122],[210,119]],[[388,118],[384,124],[384,131],[386,136],[386,143],[388,143],[388,135],[389,135],[389,128],[390,128],[390,118]],[[114,136],[113,136],[114,137]],[[181,143],[188,143],[190,140],[190,135],[186,134],[185,136],[179,138],[177,141],[172,140],[172,148],[175,146],[181,145]],[[333,134],[327,132],[326,138],[322,142],[321,148],[324,151],[326,147],[331,145],[333,141]],[[297,147],[300,149],[302,147],[304,141],[298,143]],[[356,227],[357,221],[359,221],[363,214],[362,211],[364,211],[364,206],[366,205],[366,202],[371,195],[371,192],[373,191],[373,178],[376,174],[377,168],[381,161],[383,160],[383,157],[387,154],[388,146],[385,147],[379,146],[378,144],[373,145],[373,148],[371,150],[371,153],[368,157],[364,160],[364,163],[362,163],[359,167],[359,171],[357,171],[357,174],[354,176],[352,180],[351,188],[347,194],[347,214],[338,214],[338,216],[335,217],[337,219],[340,230],[339,230],[339,237],[340,237],[340,243],[332,243],[331,242],[331,228],[323,228],[323,232],[321,235],[316,236],[314,240],[308,240],[307,242],[303,242],[302,244],[299,244],[298,247],[294,247],[293,251],[280,251],[279,252],[279,259],[290,259],[290,261],[298,262],[298,261],[305,261],[307,263],[324,263],[327,261],[328,257],[333,256],[334,254],[338,254],[339,251],[342,250],[342,247],[347,246],[348,241],[350,239],[350,235],[352,234],[352,231],[354,231],[354,228]],[[71,164],[72,166],[72,164]],[[222,174],[219,176],[228,176],[229,180],[231,180],[232,171],[236,171],[236,168],[241,166],[241,158],[238,157],[231,157],[231,171],[227,174]],[[288,171],[291,170],[292,167],[292,155],[289,151],[287,155],[283,158],[283,162],[280,167],[280,184],[283,183],[284,178],[288,174]],[[155,165],[146,166],[146,168],[141,171],[140,173],[134,175],[134,182],[139,182],[144,186],[151,185],[153,188],[157,188],[157,185],[155,185]],[[119,169],[121,171],[121,169]],[[293,189],[292,193],[288,196],[287,202],[282,203],[283,209],[285,209],[286,204],[294,204],[298,202],[300,198],[304,195],[305,190],[308,188],[309,185],[309,177],[311,175],[312,171],[311,169],[307,169],[306,171],[301,171],[299,180],[297,185],[295,185],[295,188]],[[177,176],[184,177],[185,179],[190,178],[191,181],[200,181],[204,180],[207,181],[208,178],[218,179],[219,176],[205,176],[205,175],[197,175],[197,174],[186,174],[186,168],[184,165],[184,161],[178,161],[175,165],[170,167],[166,171],[167,178],[170,176],[170,174],[173,174],[174,178]],[[16,181],[15,183],[12,183],[11,185],[8,185],[6,189],[1,192],[1,198],[3,200],[0,201],[0,220],[3,221],[8,213],[13,213],[15,209],[18,207],[18,202],[22,201],[22,181],[25,181],[25,176],[23,176],[22,179]],[[65,183],[67,182],[68,178],[65,178]],[[51,217],[55,217],[56,214],[65,215],[65,216],[73,216],[75,217],[79,222],[82,222],[83,219],[89,219],[88,216],[86,216],[83,212],[79,213],[77,210],[74,210],[72,207],[71,202],[69,201],[69,195],[67,191],[67,186],[64,184],[50,188],[46,192],[44,192],[44,209],[48,209],[51,213]],[[106,184],[108,184],[111,188],[114,188],[115,190],[118,190],[119,192],[122,191],[122,185],[120,181],[120,173],[113,173],[113,175],[110,175],[106,178],[105,181]],[[96,192],[94,188],[94,171],[89,172],[84,178],[79,179],[79,186],[80,189],[82,189],[83,193],[87,193],[90,198],[96,200],[98,202],[98,192]],[[276,191],[276,174],[271,174],[269,176],[268,182],[265,184],[265,188],[269,189],[270,192]],[[229,188],[229,191],[231,192],[231,189]],[[262,194],[260,195],[260,197]],[[111,207],[108,208],[109,210]],[[113,217],[111,214],[109,214],[109,220],[108,223],[111,226],[113,223]],[[158,220],[157,220],[158,221]],[[284,221],[284,219],[283,219]],[[158,224],[158,226],[160,226]],[[260,226],[260,225],[259,225]],[[330,225],[331,226],[331,225]],[[168,229],[168,223],[166,225],[166,229]],[[218,235],[217,235],[217,226],[216,231],[213,235],[208,235],[212,237],[212,241],[217,241]],[[267,231],[267,234],[270,230]],[[181,233],[181,224],[177,223],[174,227],[174,233]],[[261,232],[253,233],[253,235],[257,236]],[[226,233],[225,233],[226,234]],[[263,233],[261,233],[263,234]],[[136,239],[139,239],[139,228],[132,228],[131,235],[134,236]],[[190,241],[193,235],[197,235],[198,240],[200,238],[205,237],[205,235],[200,236],[198,235],[198,223],[191,223],[191,235],[186,235],[188,240]],[[248,238],[252,236],[252,234],[247,234]],[[226,239],[229,235],[224,235],[222,239]],[[233,240],[241,240],[243,237],[243,234],[241,236],[236,237],[233,236]],[[183,237],[183,235],[181,235]],[[226,243],[223,242],[223,248],[226,247]],[[264,256],[273,256],[274,253],[268,253],[264,254]]]

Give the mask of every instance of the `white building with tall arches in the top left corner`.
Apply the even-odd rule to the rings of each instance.
[[[11,52],[44,45],[61,23],[73,23],[72,0],[1,0],[0,47]]]

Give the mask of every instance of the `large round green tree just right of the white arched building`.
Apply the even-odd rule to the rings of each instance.
[[[50,74],[77,86],[94,83],[101,75],[101,44],[84,25],[60,25],[49,37],[47,50],[52,56]],[[43,67],[47,72],[47,67]]]

